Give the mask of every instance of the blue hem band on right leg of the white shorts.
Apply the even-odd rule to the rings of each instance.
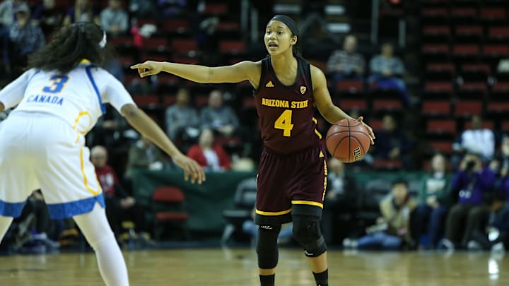
[[[74,215],[83,215],[83,213],[90,213],[93,210],[95,202],[98,202],[105,208],[103,193],[93,196],[91,198],[83,198],[78,201],[71,201],[69,203],[48,203],[49,216],[53,219],[71,218]]]

